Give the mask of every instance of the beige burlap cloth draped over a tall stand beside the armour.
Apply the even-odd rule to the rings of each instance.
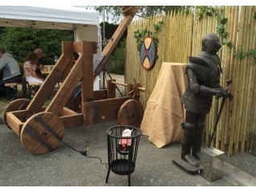
[[[180,96],[187,88],[186,63],[163,63],[142,119],[143,135],[158,148],[181,141],[184,107]]]

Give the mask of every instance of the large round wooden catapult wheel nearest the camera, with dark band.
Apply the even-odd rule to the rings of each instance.
[[[31,153],[42,154],[56,149],[64,137],[64,124],[52,112],[31,116],[20,133],[20,140]]]

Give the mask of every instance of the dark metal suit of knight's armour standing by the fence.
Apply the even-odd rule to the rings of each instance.
[[[220,85],[221,63],[217,51],[221,43],[216,34],[204,35],[199,55],[190,57],[185,73],[188,88],[181,96],[186,109],[181,158],[193,166],[199,166],[204,119],[209,114],[213,96],[225,95]]]

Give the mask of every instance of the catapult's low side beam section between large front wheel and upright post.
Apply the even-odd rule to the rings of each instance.
[[[65,129],[81,126],[84,125],[84,114],[78,113],[76,115],[60,116],[60,120],[63,122]]]

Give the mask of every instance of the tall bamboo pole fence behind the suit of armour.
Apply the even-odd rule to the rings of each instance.
[[[256,6],[214,6],[214,9],[221,11],[223,18],[228,18],[225,31],[228,32],[227,38],[232,43],[232,51],[228,51],[228,47],[223,45],[218,55],[223,70],[221,85],[226,87],[226,80],[233,80],[229,89],[233,100],[225,102],[212,146],[232,156],[233,153],[248,151],[252,134],[256,132],[256,59],[253,54],[244,59],[233,56],[239,51],[239,47],[242,51],[256,49]],[[147,91],[141,94],[144,108],[155,88],[162,63],[188,63],[189,56],[198,55],[200,52],[203,36],[207,33],[217,34],[216,16],[204,15],[199,19],[198,15],[199,9],[196,7],[188,14],[180,10],[177,13],[136,19],[128,27],[125,81],[130,83],[134,78],[142,78],[142,84],[145,83],[143,87],[147,88]],[[145,27],[154,31],[153,25],[159,21],[164,22],[164,27],[155,34],[155,38],[159,39],[158,59],[155,66],[146,71],[139,60],[134,31],[142,31]],[[205,120],[204,142],[207,145],[220,106],[221,100],[213,100],[211,112]]]

